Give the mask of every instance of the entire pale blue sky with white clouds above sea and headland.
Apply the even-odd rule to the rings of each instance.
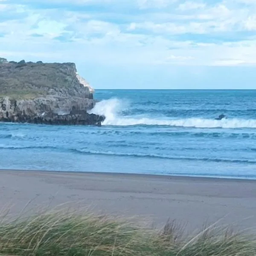
[[[95,89],[256,89],[256,0],[0,0],[0,57]]]

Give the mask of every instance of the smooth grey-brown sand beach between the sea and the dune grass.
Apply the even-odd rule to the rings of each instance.
[[[94,212],[168,218],[200,229],[205,221],[256,230],[256,180],[81,172],[0,171],[0,207],[80,202]]]

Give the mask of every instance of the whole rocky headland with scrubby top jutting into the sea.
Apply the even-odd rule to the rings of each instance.
[[[101,125],[104,116],[87,113],[93,91],[74,63],[0,58],[0,122]]]

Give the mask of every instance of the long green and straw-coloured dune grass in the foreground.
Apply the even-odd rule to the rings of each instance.
[[[0,222],[0,254],[12,256],[255,256],[256,241],[220,227],[183,238],[129,221],[64,210]]]

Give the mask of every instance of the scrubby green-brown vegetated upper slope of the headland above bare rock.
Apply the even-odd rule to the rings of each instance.
[[[92,98],[79,83],[74,63],[6,61],[0,58],[0,96],[35,99],[47,95]]]

